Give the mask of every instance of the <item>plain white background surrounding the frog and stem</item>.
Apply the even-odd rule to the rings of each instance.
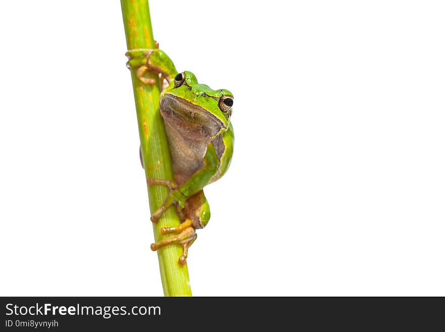
[[[235,95],[196,296],[445,296],[445,8],[151,0]],[[0,5],[0,293],[161,296],[117,1]]]

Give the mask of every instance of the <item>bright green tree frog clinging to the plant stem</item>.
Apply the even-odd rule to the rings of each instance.
[[[158,75],[162,91],[159,110],[170,148],[173,180],[147,178],[148,185],[169,188],[163,204],[150,217],[157,222],[163,212],[175,206],[181,224],[161,227],[160,233],[173,234],[153,243],[153,251],[180,244],[183,254],[179,264],[187,264],[188,250],[197,238],[196,229],[204,228],[210,219],[210,208],[203,188],[226,174],[234,151],[233,93],[227,89],[213,90],[198,83],[190,71],[178,72],[156,43],[154,49],[130,50],[125,54],[127,67],[145,84],[157,81],[147,77]],[[143,165],[140,151],[141,164]]]

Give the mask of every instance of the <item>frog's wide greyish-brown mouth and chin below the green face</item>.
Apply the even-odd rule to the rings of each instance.
[[[164,94],[160,109],[164,121],[179,129],[182,128],[186,131],[200,130],[211,137],[215,137],[218,133],[227,129],[221,120],[204,108],[172,94]]]

